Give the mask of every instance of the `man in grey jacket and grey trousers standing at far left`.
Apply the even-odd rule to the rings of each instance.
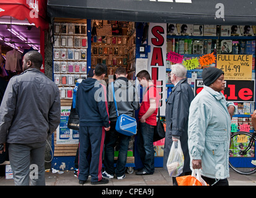
[[[5,151],[9,143],[19,186],[45,185],[45,140],[60,124],[60,91],[40,72],[42,62],[38,51],[24,55],[24,72],[9,81],[0,106],[0,144]],[[37,177],[30,176],[30,165],[37,167]]]

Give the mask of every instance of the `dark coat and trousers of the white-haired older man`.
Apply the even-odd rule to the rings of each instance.
[[[166,140],[164,144],[164,168],[172,146],[172,136],[180,139],[184,155],[183,173],[190,171],[188,153],[188,114],[194,93],[187,79],[180,80],[169,95],[166,103]]]

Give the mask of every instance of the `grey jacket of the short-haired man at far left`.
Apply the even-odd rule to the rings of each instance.
[[[60,124],[60,91],[38,69],[9,81],[0,106],[0,144],[43,142]]]

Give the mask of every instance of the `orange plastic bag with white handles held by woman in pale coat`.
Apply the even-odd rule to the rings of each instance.
[[[178,186],[209,186],[203,178],[199,170],[192,170],[192,175],[180,176],[176,178]]]

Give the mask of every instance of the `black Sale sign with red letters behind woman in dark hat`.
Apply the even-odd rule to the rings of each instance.
[[[203,89],[203,80],[195,79],[195,95]],[[223,92],[227,101],[254,102],[255,80],[226,80],[226,88]]]

